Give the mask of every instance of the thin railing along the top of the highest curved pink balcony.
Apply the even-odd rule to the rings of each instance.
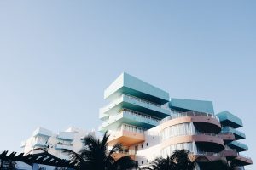
[[[205,112],[187,111],[187,112],[176,112],[176,113],[172,114],[171,116],[167,116],[166,118],[162,119],[160,121],[160,123],[164,123],[166,121],[176,119],[176,118],[179,118],[179,117],[185,117],[185,116],[207,116],[207,117],[215,118],[219,122],[218,116],[214,116],[212,114],[205,113]]]

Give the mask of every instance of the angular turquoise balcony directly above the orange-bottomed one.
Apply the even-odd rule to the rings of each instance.
[[[121,111],[115,116],[109,116],[108,121],[102,123],[99,127],[101,132],[107,131],[108,129],[118,128],[121,124],[128,124],[136,127],[143,127],[149,129],[159,125],[160,120],[152,117],[141,115],[137,111]]]

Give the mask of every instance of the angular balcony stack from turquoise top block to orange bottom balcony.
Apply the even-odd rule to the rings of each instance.
[[[100,109],[103,122],[99,130],[111,132],[109,144],[120,142],[130,146],[143,142],[144,134],[137,129],[155,127],[160,119],[170,115],[170,110],[163,107],[169,101],[168,93],[126,73],[105,90],[104,98],[109,104]],[[124,126],[135,130],[124,129]]]

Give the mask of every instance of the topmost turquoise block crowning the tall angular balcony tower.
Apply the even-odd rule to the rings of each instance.
[[[137,77],[122,73],[105,91],[104,99],[115,99],[120,94],[130,94],[163,105],[169,101],[169,94]]]

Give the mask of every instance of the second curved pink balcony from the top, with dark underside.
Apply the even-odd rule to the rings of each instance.
[[[218,135],[212,133],[195,133],[190,135],[176,136],[162,141],[161,149],[172,144],[195,142],[201,150],[206,152],[219,152],[224,150],[224,141]]]

